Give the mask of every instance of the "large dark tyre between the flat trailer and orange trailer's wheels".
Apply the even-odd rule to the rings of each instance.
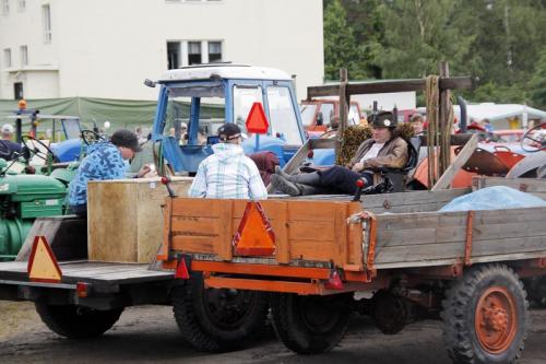
[[[226,352],[242,348],[265,325],[269,294],[205,289],[201,273],[191,273],[173,291],[173,310],[180,332],[195,350]]]

